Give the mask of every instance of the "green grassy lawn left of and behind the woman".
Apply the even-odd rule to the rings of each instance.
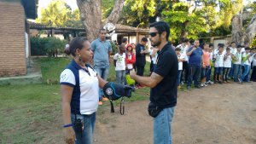
[[[56,137],[62,137],[60,85],[56,83],[70,59],[38,60],[44,84],[0,86],[0,143],[58,143],[53,141]],[[149,63],[145,68],[145,75],[148,74]],[[114,79],[114,67],[111,65],[108,80]],[[47,81],[51,83],[47,84]],[[126,101],[148,100],[148,92],[148,88],[137,89]],[[114,102],[114,105],[118,104],[119,101]],[[105,107],[110,107],[109,102],[99,107],[97,114],[105,112]],[[55,135],[46,137],[49,134]]]

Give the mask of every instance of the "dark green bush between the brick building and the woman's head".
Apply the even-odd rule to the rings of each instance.
[[[57,37],[31,37],[32,55],[49,55],[55,56],[62,52],[67,43]]]

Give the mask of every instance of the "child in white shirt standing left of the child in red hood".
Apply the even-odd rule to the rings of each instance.
[[[125,84],[125,44],[119,45],[119,53],[113,55],[116,83]]]

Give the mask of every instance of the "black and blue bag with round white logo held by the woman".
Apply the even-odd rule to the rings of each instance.
[[[109,100],[118,100],[120,97],[131,97],[131,92],[135,89],[128,85],[115,84],[113,82],[108,82],[103,87],[104,95],[108,97]]]

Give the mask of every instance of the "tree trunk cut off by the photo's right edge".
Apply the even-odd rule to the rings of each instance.
[[[247,26],[245,37],[244,37],[244,43],[252,43],[252,40],[255,37],[255,34],[256,34],[256,14],[254,14],[252,20]]]

